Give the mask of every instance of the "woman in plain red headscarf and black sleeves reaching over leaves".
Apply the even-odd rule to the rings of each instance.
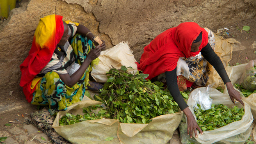
[[[234,103],[235,98],[243,105],[241,96],[239,92],[233,88],[222,61],[208,43],[208,33],[197,23],[181,23],[177,27],[162,32],[144,48],[140,63],[137,63],[139,70],[149,74],[149,80],[165,73],[167,87],[174,100],[187,117],[187,133],[190,133],[191,137],[193,131],[197,137],[196,129],[198,129],[201,134],[202,130],[197,125],[197,121],[194,119],[187,103],[185,103],[181,96],[178,87],[176,67],[180,57],[189,59],[190,57],[196,57],[198,55],[202,55],[219,73],[227,86],[231,101]],[[203,77],[202,74],[197,73],[197,70],[200,70],[201,67],[202,66],[198,65],[193,68],[190,67],[190,75],[192,75],[192,77],[198,77],[198,75]],[[207,78],[204,78],[204,80],[207,81]],[[193,78],[188,78],[185,81],[187,86],[191,86],[193,82],[195,82]],[[205,83],[204,81],[203,84]]]

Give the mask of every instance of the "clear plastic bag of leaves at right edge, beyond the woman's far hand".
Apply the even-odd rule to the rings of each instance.
[[[256,89],[256,60],[250,60],[239,80],[244,89],[254,91]]]

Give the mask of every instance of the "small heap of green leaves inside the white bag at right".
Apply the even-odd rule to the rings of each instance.
[[[245,114],[243,108],[229,108],[226,105],[212,105],[209,110],[201,110],[201,106],[197,105],[199,109],[194,109],[194,113],[197,117],[197,123],[201,130],[215,130],[222,126],[226,126],[234,121],[239,121]]]

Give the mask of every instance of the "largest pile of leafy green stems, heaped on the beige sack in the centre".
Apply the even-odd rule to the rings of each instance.
[[[83,108],[83,117],[68,114],[59,120],[60,125],[70,124],[71,117],[71,123],[103,118],[118,119],[122,123],[149,123],[154,117],[179,111],[178,104],[162,82],[151,82],[145,79],[148,74],[139,71],[133,74],[127,70],[125,66],[119,70],[110,69],[99,96],[94,96],[102,105]],[[185,92],[181,94],[188,98]],[[94,110],[98,108],[100,110],[96,114]]]

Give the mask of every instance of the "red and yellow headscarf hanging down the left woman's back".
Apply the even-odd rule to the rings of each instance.
[[[53,52],[62,38],[64,26],[62,16],[49,15],[41,18],[34,33],[32,47],[27,58],[20,65],[21,82],[27,101],[32,101],[32,80],[50,62]]]

